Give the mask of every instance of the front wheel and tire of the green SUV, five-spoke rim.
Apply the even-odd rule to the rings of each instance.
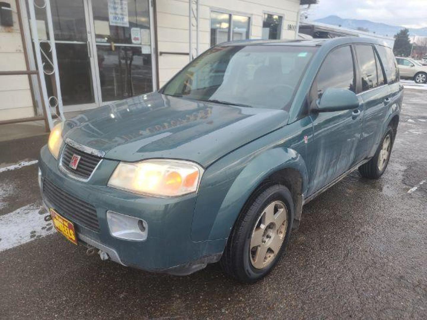
[[[222,254],[225,273],[245,283],[266,276],[289,242],[292,221],[293,201],[287,187],[271,183],[255,192],[237,218]]]

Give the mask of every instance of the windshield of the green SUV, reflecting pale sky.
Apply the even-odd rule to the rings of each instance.
[[[285,109],[315,47],[214,47],[181,70],[161,93],[199,101]]]

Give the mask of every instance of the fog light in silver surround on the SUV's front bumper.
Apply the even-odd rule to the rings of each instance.
[[[107,221],[113,237],[136,241],[147,239],[148,225],[142,219],[107,211]]]

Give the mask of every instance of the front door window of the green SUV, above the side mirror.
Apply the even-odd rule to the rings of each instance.
[[[327,88],[348,89],[354,92],[353,57],[349,46],[333,50],[323,61],[317,75],[318,96]]]

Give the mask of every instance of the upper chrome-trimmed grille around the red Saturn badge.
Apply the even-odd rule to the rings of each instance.
[[[73,157],[73,154],[80,156],[80,161],[76,169],[70,167],[70,161]],[[92,172],[94,172],[100,161],[100,157],[80,151],[79,149],[76,149],[71,145],[66,144],[64,147],[64,151],[62,152],[61,165],[65,170],[67,170],[67,172],[70,172],[72,175],[75,175],[76,177],[82,179],[88,179],[92,175]]]

